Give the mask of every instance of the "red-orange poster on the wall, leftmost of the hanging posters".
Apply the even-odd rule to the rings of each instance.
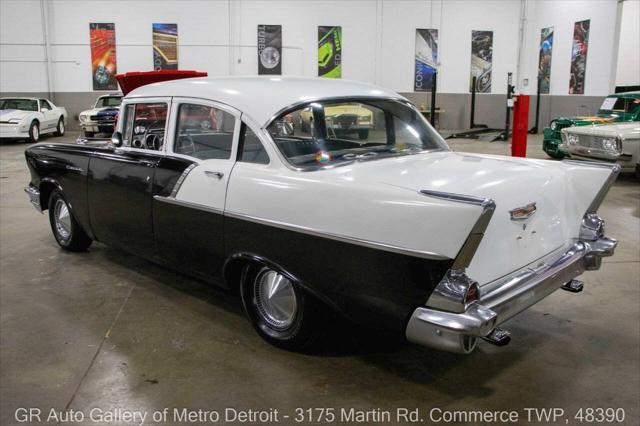
[[[93,90],[118,90],[116,25],[89,24]]]

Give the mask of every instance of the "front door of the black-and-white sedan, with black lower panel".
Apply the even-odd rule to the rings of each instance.
[[[96,150],[89,170],[88,199],[96,238],[142,257],[157,252],[151,213],[153,183],[165,156],[170,98],[123,104],[123,145]]]

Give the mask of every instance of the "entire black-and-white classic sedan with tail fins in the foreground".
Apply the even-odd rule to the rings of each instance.
[[[327,126],[341,105],[371,112],[366,137]],[[62,248],[100,241],[238,290],[289,349],[332,310],[446,351],[506,344],[502,323],[580,291],[616,247],[597,209],[617,165],[452,152],[406,99],[363,83],[150,84],[124,98],[110,143],[26,160]]]

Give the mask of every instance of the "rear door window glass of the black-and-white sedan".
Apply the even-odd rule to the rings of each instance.
[[[173,151],[201,160],[231,158],[235,117],[221,109],[181,104]]]

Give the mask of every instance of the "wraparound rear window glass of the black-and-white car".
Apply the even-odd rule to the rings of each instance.
[[[267,130],[284,157],[302,168],[449,149],[416,109],[386,99],[311,102]]]

